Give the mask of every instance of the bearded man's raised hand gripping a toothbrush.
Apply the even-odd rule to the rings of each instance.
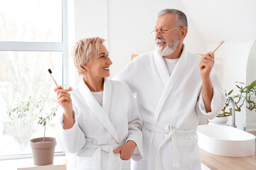
[[[210,71],[213,68],[213,64],[214,64],[213,52],[208,52],[206,55],[203,55],[200,62],[202,80],[210,77]]]

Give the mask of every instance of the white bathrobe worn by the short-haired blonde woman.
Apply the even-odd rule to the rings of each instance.
[[[102,106],[83,79],[70,95],[75,125],[63,130],[63,114],[60,114],[57,137],[63,151],[73,154],[68,169],[130,169],[130,160],[124,161],[113,152],[128,140],[137,144],[137,154],[132,159],[142,159],[142,117],[126,84],[106,78]]]

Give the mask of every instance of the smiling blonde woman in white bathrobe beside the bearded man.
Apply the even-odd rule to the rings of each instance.
[[[57,142],[73,154],[68,169],[130,169],[142,159],[142,117],[126,84],[109,80],[112,61],[102,38],[78,40],[73,62],[75,89],[55,87],[63,108]]]

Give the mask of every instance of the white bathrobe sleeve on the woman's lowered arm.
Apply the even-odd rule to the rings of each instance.
[[[131,94],[130,96],[130,106],[128,114],[128,136],[127,141],[132,140],[137,144],[132,154],[132,159],[134,161],[139,161],[143,157],[143,147],[142,147],[142,115],[140,115],[135,98],[132,92],[127,86],[127,91]]]

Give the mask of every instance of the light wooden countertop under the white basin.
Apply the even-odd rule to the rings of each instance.
[[[251,155],[250,157],[223,157],[215,154],[210,154],[209,152],[206,152],[201,148],[199,149],[201,152],[202,163],[211,170],[256,169],[256,149],[255,154]]]

